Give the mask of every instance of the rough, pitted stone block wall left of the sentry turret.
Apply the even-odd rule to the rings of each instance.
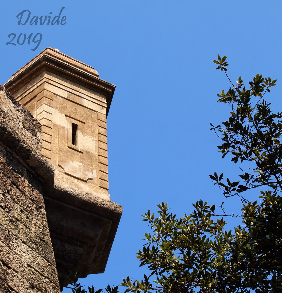
[[[43,200],[54,167],[41,125],[0,91],[0,292],[60,292]]]

